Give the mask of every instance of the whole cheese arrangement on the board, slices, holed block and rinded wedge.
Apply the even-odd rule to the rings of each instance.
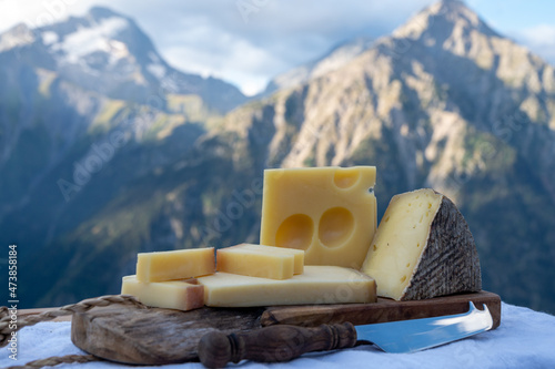
[[[261,244],[138,256],[122,294],[181,310],[425,299],[482,289],[456,206],[433,189],[396,195],[376,229],[375,167],[266,170]]]

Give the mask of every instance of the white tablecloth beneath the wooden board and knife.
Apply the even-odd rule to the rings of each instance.
[[[18,334],[18,360],[0,351],[0,368],[51,356],[84,353],[70,339],[70,322],[41,322]],[[57,368],[144,368],[111,362],[61,365]],[[555,316],[502,304],[501,327],[477,336],[415,353],[385,353],[372,346],[334,352],[313,352],[290,362],[262,365],[242,361],[229,368],[555,368]],[[203,368],[201,363],[163,368]]]

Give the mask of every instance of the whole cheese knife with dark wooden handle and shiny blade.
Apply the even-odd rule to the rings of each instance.
[[[206,368],[223,368],[243,359],[289,361],[305,352],[374,344],[385,352],[414,352],[448,344],[491,329],[492,315],[470,303],[467,312],[353,326],[351,322],[306,328],[275,325],[242,334],[212,331],[199,341],[198,353]]]

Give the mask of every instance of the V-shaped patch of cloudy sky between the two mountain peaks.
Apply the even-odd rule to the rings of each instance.
[[[121,1],[120,1],[121,2]],[[274,75],[314,60],[335,44],[366,34],[380,37],[430,0],[383,2],[216,0],[143,9],[139,19],[161,53],[178,68],[225,78],[252,94]],[[115,7],[115,3],[114,3]],[[171,24],[173,32],[160,33]]]

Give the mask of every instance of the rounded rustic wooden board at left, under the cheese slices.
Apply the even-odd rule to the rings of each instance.
[[[94,307],[74,314],[71,341],[88,353],[125,365],[159,366],[198,361],[196,346],[202,335],[219,329],[232,334],[260,328],[260,316],[263,311],[264,308],[202,307],[181,311],[165,308],[138,309],[130,305]],[[222,314],[225,319],[219,324],[218,317]],[[171,324],[172,328],[164,330],[157,319]],[[117,321],[125,324],[115,324]],[[172,331],[179,326],[176,321],[180,321],[181,326]],[[200,326],[193,327],[189,324],[193,321]],[[225,325],[232,326],[225,329]],[[129,331],[130,329],[132,331]],[[191,334],[191,329],[195,332]],[[162,337],[173,339],[169,346],[159,345],[164,340]],[[164,347],[171,349],[165,350]]]

